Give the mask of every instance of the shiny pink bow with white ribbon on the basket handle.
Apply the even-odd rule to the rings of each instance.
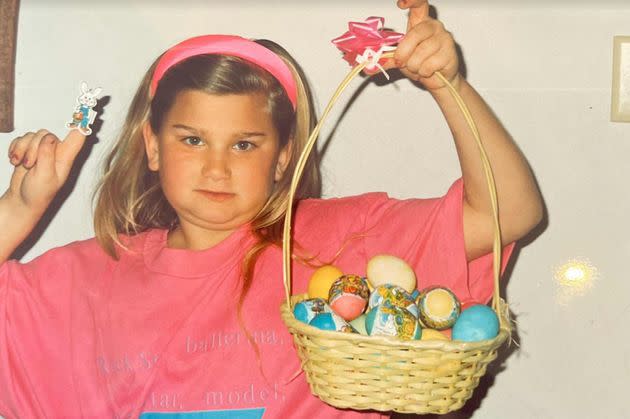
[[[394,45],[404,34],[383,29],[384,23],[385,19],[379,16],[370,16],[364,22],[348,22],[348,31],[332,43],[343,52],[343,59],[351,66],[368,62],[365,68],[378,68],[389,80],[379,60],[384,52],[395,49]]]

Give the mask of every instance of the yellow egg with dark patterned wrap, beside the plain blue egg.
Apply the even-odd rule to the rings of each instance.
[[[459,312],[459,300],[447,288],[425,288],[418,296],[418,320],[426,328],[448,329],[455,324]]]

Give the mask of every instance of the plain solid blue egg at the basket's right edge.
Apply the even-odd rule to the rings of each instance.
[[[494,310],[477,304],[462,311],[453,326],[453,340],[477,342],[499,334],[499,318]]]

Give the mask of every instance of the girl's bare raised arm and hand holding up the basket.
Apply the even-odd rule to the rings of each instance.
[[[492,208],[479,151],[441,72],[457,89],[477,123],[495,176],[501,236],[504,243],[526,235],[542,218],[542,198],[524,156],[485,101],[459,74],[452,35],[429,16],[427,0],[398,0],[409,10],[407,33],[394,59],[384,67],[399,68],[422,83],[435,98],[453,133],[464,181],[464,240],[468,260],[492,251]]]

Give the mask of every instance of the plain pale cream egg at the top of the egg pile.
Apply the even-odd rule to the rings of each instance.
[[[367,278],[374,288],[383,284],[398,285],[407,292],[416,288],[416,274],[404,260],[392,255],[377,255],[367,264]]]

